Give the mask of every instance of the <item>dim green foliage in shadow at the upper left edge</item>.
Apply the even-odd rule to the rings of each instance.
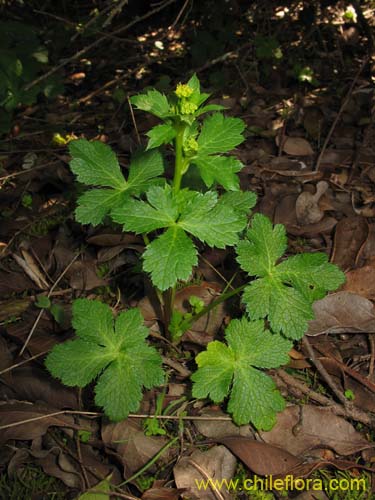
[[[25,89],[48,63],[47,48],[32,26],[0,22],[0,47],[0,133],[5,133],[19,105],[33,104],[41,93],[54,97],[63,87],[59,78],[51,76]]]

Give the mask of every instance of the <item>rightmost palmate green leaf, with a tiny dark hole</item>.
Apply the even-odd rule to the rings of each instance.
[[[252,319],[268,318],[273,331],[300,339],[314,318],[312,303],[345,281],[325,254],[300,254],[280,264],[286,250],[285,228],[256,214],[247,239],[237,246],[242,269],[258,279],[244,290],[242,300]]]

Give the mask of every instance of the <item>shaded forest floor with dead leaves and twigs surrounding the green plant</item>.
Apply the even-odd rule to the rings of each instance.
[[[85,36],[52,2],[33,13],[48,36],[64,29],[73,41],[50,65],[64,90],[17,109],[0,143],[1,499],[375,498],[374,11],[244,3],[212,12],[211,2],[169,1],[139,17],[125,6]],[[9,19],[30,23],[22,9]],[[270,372],[288,404],[269,432],[238,427],[225,405],[190,395],[191,359],[239,315],[239,300],[201,318],[175,350],[141,273],[142,238],[74,218],[82,186],[69,142],[102,141],[126,169],[156,123],[133,113],[129,96],[170,92],[193,73],[212,102],[246,122],[235,154],[241,188],[258,196],[255,211],[285,225],[289,255],[325,252],[346,274],[340,290],[314,304],[290,363]],[[207,305],[242,283],[232,249],[203,250],[176,307],[188,312],[191,295]],[[113,311],[139,306],[164,353],[167,383],[146,391],[125,421],[108,422],[91,387],[64,387],[44,368],[48,351],[73,335],[78,297]],[[232,477],[243,487],[254,474],[320,486],[228,493],[196,482]],[[339,492],[331,479],[343,481]],[[363,490],[345,488],[353,479]]]

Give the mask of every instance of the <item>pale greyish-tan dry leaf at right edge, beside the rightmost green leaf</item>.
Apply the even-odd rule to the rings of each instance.
[[[351,292],[327,295],[313,304],[315,319],[306,335],[323,333],[375,333],[375,308],[372,302]]]

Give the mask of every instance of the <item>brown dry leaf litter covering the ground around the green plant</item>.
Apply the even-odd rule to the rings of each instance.
[[[272,22],[282,21],[272,19]],[[154,21],[154,24],[158,23]],[[168,44],[178,46],[181,43],[178,40],[189,36],[186,25],[181,24],[180,28],[181,31],[175,31],[178,36],[172,35]],[[152,51],[154,39],[161,36],[161,31],[156,26],[154,35],[146,34],[146,42],[140,50],[142,63],[149,57],[147,51]],[[348,50],[347,44],[350,43],[350,38],[347,35],[345,37],[342,39],[344,52]],[[136,41],[135,35],[133,41]],[[355,49],[352,46],[350,50]],[[326,56],[328,54],[324,54],[323,59]],[[159,52],[159,57],[164,56]],[[293,88],[290,80],[280,81],[280,75],[276,78],[274,74],[269,80],[263,77],[260,82],[262,75],[258,74],[258,80],[254,79],[247,55],[239,52],[239,57],[240,70],[246,71],[244,80],[247,81],[247,87],[242,88],[243,79],[238,78],[236,66],[224,64],[223,74],[230,75],[225,84],[226,90],[234,97],[231,97],[230,106],[225,102],[228,99],[219,99],[218,103],[235,108],[236,116],[245,115],[249,127],[259,127],[257,130],[249,128],[252,135],[249,134],[247,143],[238,149],[238,156],[246,164],[239,175],[241,186],[257,191],[259,212],[267,213],[274,223],[286,225],[292,254],[306,250],[323,251],[330,256],[331,262],[338,264],[346,272],[347,281],[342,289],[314,305],[315,319],[309,323],[308,335],[311,338],[316,336],[317,339],[323,339],[324,335],[330,342],[334,342],[336,351],[342,355],[340,362],[355,370],[357,377],[353,378],[348,371],[333,363],[332,359],[327,361],[327,357],[325,359],[319,352],[319,345],[315,352],[331,376],[342,384],[342,389],[353,392],[354,404],[373,412],[374,406],[370,404],[373,394],[363,382],[368,376],[371,356],[374,356],[370,340],[375,332],[372,302],[375,254],[374,228],[371,223],[374,215],[375,153],[369,140],[369,131],[372,130],[373,134],[367,112],[370,109],[369,94],[362,91],[363,87],[364,90],[368,87],[369,77],[363,76],[358,89],[353,92],[339,116],[341,119],[330,136],[329,144],[322,148],[322,141],[327,137],[329,126],[341,105],[336,92],[331,89],[326,95],[322,95],[309,87]],[[327,66],[332,64],[329,57],[324,59],[323,64],[327,61]],[[214,70],[215,65],[209,69]],[[350,68],[344,70],[347,72],[345,76],[349,75],[353,79]],[[202,71],[202,75],[205,75],[205,70]],[[147,83],[153,86],[157,77],[158,75],[154,77],[149,74]],[[211,87],[210,90],[214,91],[216,87],[209,83],[208,74],[203,78],[207,88]],[[94,84],[99,84],[99,90],[100,85],[106,83],[104,80],[100,81],[99,74],[94,79]],[[74,114],[64,100],[56,103],[55,109],[46,103],[40,103],[36,109],[28,109],[27,114],[20,114],[18,122],[26,135],[12,137],[12,147],[13,151],[17,151],[17,147],[21,152],[6,152],[4,171],[1,174],[18,174],[27,166],[22,175],[12,177],[11,183],[5,183],[4,197],[0,202],[2,210],[10,210],[0,228],[3,250],[0,318],[4,354],[0,371],[11,368],[13,364],[26,362],[25,365],[1,375],[4,388],[1,392],[3,404],[0,406],[0,435],[4,443],[15,448],[13,461],[10,463],[13,470],[34,460],[47,474],[59,477],[78,493],[95,485],[103,485],[103,481],[111,473],[111,488],[113,484],[121,482],[121,476],[123,480],[127,480],[147,466],[169,441],[163,436],[146,436],[138,420],[137,424],[133,419],[109,424],[99,420],[97,415],[92,417],[96,418],[93,421],[71,415],[53,415],[66,408],[80,408],[82,411],[95,411],[97,408],[92,403],[92,388],[78,396],[75,390],[62,388],[48,377],[42,366],[42,357],[31,359],[32,356],[48,351],[72,333],[69,324],[64,327],[57,324],[48,311],[45,311],[39,321],[27,352],[18,356],[39,312],[35,308],[37,294],[50,288],[58,279],[83,242],[87,248],[56,290],[61,295],[51,297],[53,302],[58,301],[65,306],[68,322],[70,303],[75,294],[89,298],[101,297],[119,311],[126,309],[132,301],[133,305],[134,301],[141,301],[142,310],[148,310],[146,319],[154,324],[155,335],[161,320],[150,302],[147,283],[142,278],[129,277],[137,261],[136,255],[142,251],[142,241],[128,234],[119,235],[108,230],[100,232],[88,226],[79,227],[73,222],[71,213],[74,204],[67,203],[64,198],[67,186],[69,189],[73,187],[72,177],[66,168],[67,152],[65,149],[55,149],[50,154],[49,133],[38,129],[38,119],[44,120],[46,117],[48,127],[60,120],[71,124],[75,123],[74,120],[81,120],[82,128],[79,132],[83,137],[89,138],[97,135],[97,125],[99,121],[103,121],[105,134],[100,135],[100,138],[106,140],[107,136],[111,142],[117,143],[126,159],[130,150],[133,152],[135,149],[136,136],[130,127],[124,131],[121,120],[118,121],[119,113],[113,111],[104,91],[87,99],[92,92],[91,88],[86,87],[87,79],[70,81],[75,82],[76,98],[87,104]],[[235,86],[230,86],[230,81],[236,82]],[[284,87],[280,87],[280,83]],[[128,90],[134,90],[134,82],[128,82],[127,85]],[[298,99],[292,103],[293,112],[281,114],[285,101],[280,95],[290,97],[296,89]],[[37,117],[34,122],[27,118],[33,116]],[[275,129],[277,123],[281,123],[284,129],[284,133],[281,130],[280,135],[280,128]],[[74,129],[74,126],[69,125],[70,128]],[[149,123],[146,120],[139,124],[140,131],[147,128]],[[28,136],[28,133],[39,135]],[[44,149],[35,155],[33,149],[37,148]],[[30,154],[34,156],[31,157]],[[321,157],[317,171],[315,166],[318,154]],[[44,162],[51,162],[51,158],[53,168],[39,169]],[[209,152],[201,159],[200,167],[204,168],[207,161],[210,161]],[[130,175],[130,172],[127,174]],[[226,179],[228,185],[231,181],[233,179]],[[319,186],[324,186],[324,194]],[[32,193],[31,208],[20,203],[25,190]],[[102,217],[102,214],[98,213],[97,216]],[[30,243],[30,246],[23,247],[25,242]],[[181,313],[190,312],[190,294],[198,296],[206,304],[227,286],[225,280],[231,279],[235,266],[230,253],[226,250],[221,252],[221,260],[215,255],[204,254],[211,263],[210,273],[202,264],[198,268],[197,277],[201,271],[204,280],[177,292]],[[220,269],[221,276],[212,271],[212,268]],[[239,281],[238,278],[235,280]],[[202,318],[201,323],[193,325],[185,334],[187,352],[190,350],[198,353],[201,346],[212,338],[222,338],[222,327],[232,317],[236,317],[238,304],[225,303],[220,307],[215,311],[216,315],[206,320]],[[350,349],[345,350],[348,337],[353,343]],[[157,342],[156,336],[153,341]],[[296,349],[299,349],[298,345]],[[166,355],[171,362],[179,363],[185,369],[191,368],[189,359],[176,359],[178,356],[173,349]],[[296,369],[295,376],[303,376],[306,370],[311,373],[311,366],[309,360],[309,367],[306,368],[305,365],[304,368]],[[189,397],[189,388],[181,373],[171,369],[170,377],[173,384],[182,387],[182,391],[176,391],[179,395],[165,398],[163,411],[168,416],[168,405],[177,402],[177,408],[181,408],[183,415],[186,407],[178,401],[181,396],[185,399]],[[316,383],[311,380],[306,385],[316,389]],[[150,393],[145,396],[144,411],[150,415],[155,412],[155,396]],[[334,396],[328,396],[334,400]],[[150,478],[155,475],[161,478],[161,483],[156,479],[154,484],[142,486],[141,482],[134,481],[133,489],[127,490],[127,493],[137,495],[135,498],[145,499],[179,498],[194,493],[197,498],[203,498],[201,492],[194,490],[194,478],[233,477],[237,467],[234,457],[245,464],[248,472],[285,474],[294,471],[301,477],[309,477],[314,469],[324,467],[325,464],[341,470],[357,471],[360,467],[366,467],[366,464],[371,465],[372,440],[368,438],[368,429],[356,430],[355,422],[337,416],[329,408],[302,401],[295,403],[279,414],[272,431],[261,431],[258,435],[248,427],[233,428],[234,424],[230,419],[225,420],[226,414],[218,411],[219,409],[210,410],[202,402],[200,405],[196,403],[195,407],[188,407],[189,415],[207,417],[208,420],[181,420],[184,422],[184,429],[179,431],[176,424],[179,415],[173,412],[172,407],[171,415],[177,420],[167,420],[165,428],[169,438],[181,433],[180,448],[170,448],[160,456],[156,465],[146,469],[146,478],[147,474]],[[215,421],[215,418],[220,417],[224,420]],[[321,425],[322,421],[324,425]],[[9,427],[18,422],[25,423]],[[96,425],[89,425],[89,422],[96,422]],[[243,434],[238,435],[237,429],[242,429]],[[51,433],[56,438],[55,441],[52,440]],[[73,438],[73,434],[80,436],[78,441]],[[200,451],[201,448],[198,448],[202,435],[211,440],[209,450]],[[88,441],[84,443],[86,439]],[[366,461],[362,458],[365,456],[364,452],[367,452]],[[177,459],[179,453],[180,458]],[[313,460],[306,463],[312,456]],[[347,460],[340,457],[346,457]],[[305,461],[303,465],[299,465],[301,460]],[[362,463],[359,463],[361,460]],[[108,467],[108,462],[111,467]],[[162,467],[164,472],[159,472]],[[95,473],[91,475],[90,470]],[[85,476],[89,476],[88,481]],[[171,480],[174,480],[176,488],[171,487]],[[108,489],[104,491],[107,492]],[[216,499],[217,496],[210,491],[207,492],[207,498]]]

